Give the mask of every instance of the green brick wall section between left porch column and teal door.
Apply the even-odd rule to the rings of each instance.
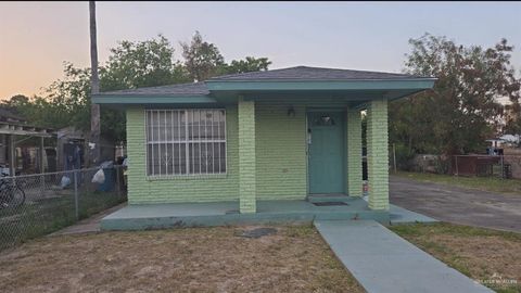
[[[307,195],[306,110],[287,103],[256,102],[256,183],[258,200],[304,200]]]

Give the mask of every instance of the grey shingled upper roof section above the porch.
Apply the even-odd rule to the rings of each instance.
[[[281,69],[272,69],[265,72],[251,72],[242,74],[232,74],[218,76],[208,79],[208,81],[288,81],[288,80],[314,80],[314,81],[330,81],[330,80],[380,80],[380,79],[415,79],[415,78],[430,78],[423,76],[415,76],[407,74],[382,73],[382,72],[367,72],[367,71],[352,71],[338,68],[322,68],[296,66]]]

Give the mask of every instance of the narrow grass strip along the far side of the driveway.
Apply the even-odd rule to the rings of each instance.
[[[496,177],[463,177],[430,173],[392,173],[399,177],[409,178],[422,182],[442,183],[468,189],[476,189],[488,192],[521,195],[520,179],[501,179]]]

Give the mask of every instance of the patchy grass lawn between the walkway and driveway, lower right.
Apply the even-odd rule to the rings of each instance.
[[[485,285],[497,292],[521,292],[519,233],[452,224],[398,225],[390,229],[468,277],[488,282]],[[511,280],[517,284],[509,284]]]

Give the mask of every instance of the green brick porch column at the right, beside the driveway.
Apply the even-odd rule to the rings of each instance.
[[[389,209],[387,101],[373,100],[367,107],[367,170],[369,208]]]

